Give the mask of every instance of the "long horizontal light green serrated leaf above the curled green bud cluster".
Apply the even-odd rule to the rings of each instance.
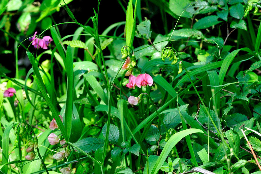
[[[169,33],[168,36],[171,36],[171,33]],[[191,29],[191,28],[183,28],[180,30],[174,30],[172,37],[173,36],[190,37],[190,38],[197,38],[197,39],[204,38],[204,35],[202,34],[201,31]],[[171,37],[171,39],[173,39],[172,37]]]

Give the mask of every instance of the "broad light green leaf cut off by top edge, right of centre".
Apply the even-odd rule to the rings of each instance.
[[[183,10],[185,10],[185,8],[187,6],[189,6],[191,4],[191,1],[189,0],[170,0],[169,1],[169,9],[176,14],[177,16],[180,16],[183,12]],[[184,11],[183,14],[181,15],[181,17],[186,17],[186,18],[190,18],[192,17],[193,14]]]

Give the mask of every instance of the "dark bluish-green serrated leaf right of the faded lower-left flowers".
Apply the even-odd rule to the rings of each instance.
[[[104,140],[94,137],[88,137],[80,139],[79,141],[75,142],[74,145],[82,149],[84,152],[89,153],[103,147]],[[79,153],[80,151],[77,152]]]

